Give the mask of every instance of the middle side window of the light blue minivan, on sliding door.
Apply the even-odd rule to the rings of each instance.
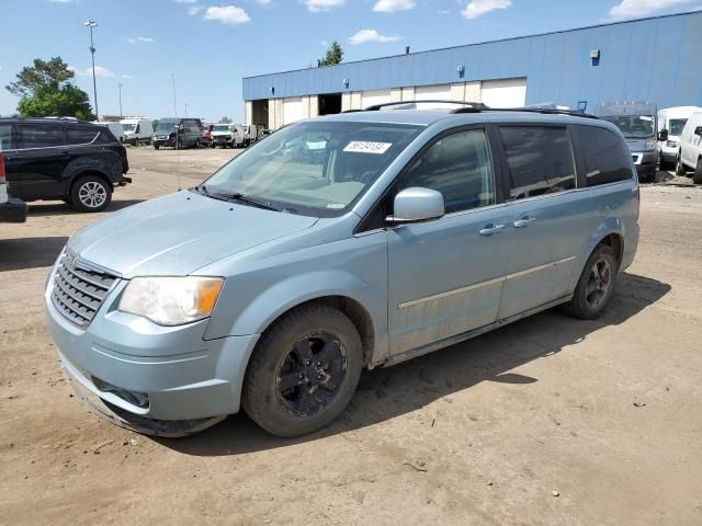
[[[565,128],[500,127],[509,168],[509,199],[575,188],[576,172]]]

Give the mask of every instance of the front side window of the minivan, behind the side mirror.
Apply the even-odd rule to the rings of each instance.
[[[399,190],[420,186],[441,192],[446,214],[495,204],[495,178],[484,129],[441,138],[403,176]]]

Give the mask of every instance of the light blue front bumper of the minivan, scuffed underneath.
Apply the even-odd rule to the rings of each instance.
[[[87,328],[71,323],[45,295],[48,331],[81,400],[120,425],[160,435],[161,421],[171,421],[173,431],[182,421],[197,427],[238,412],[258,335],[204,340],[208,320],[167,328],[117,311],[126,283],[117,283]]]

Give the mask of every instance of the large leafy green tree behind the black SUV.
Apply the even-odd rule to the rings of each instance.
[[[88,93],[71,82],[76,73],[60,57],[48,61],[34,59],[33,66],[22,69],[16,80],[5,88],[21,96],[18,112],[22,117],[76,117],[93,121]]]

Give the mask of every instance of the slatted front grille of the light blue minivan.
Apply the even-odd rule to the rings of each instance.
[[[91,267],[66,251],[54,274],[52,302],[77,325],[92,321],[117,276]]]

